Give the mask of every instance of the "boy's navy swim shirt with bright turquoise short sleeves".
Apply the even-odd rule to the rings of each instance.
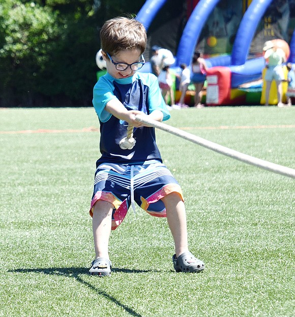
[[[163,121],[170,118],[165,101],[161,95],[158,79],[150,73],[136,72],[132,77],[115,79],[108,73],[98,80],[93,91],[93,105],[100,121],[101,158],[97,165],[109,162],[117,164],[138,164],[162,158],[156,145],[155,129],[135,128],[136,140],[131,150],[120,148],[120,141],[127,135],[128,123],[117,119],[105,110],[111,99],[118,99],[128,110],[139,110],[150,114],[161,110]]]

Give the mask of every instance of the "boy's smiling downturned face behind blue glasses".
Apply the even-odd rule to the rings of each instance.
[[[102,51],[103,59],[106,61],[107,72],[116,79],[131,77],[136,71],[133,71],[130,66],[125,70],[117,70],[112,61],[107,57],[106,52]],[[139,49],[122,50],[116,55],[112,55],[111,59],[114,63],[133,64],[141,62],[141,52]]]

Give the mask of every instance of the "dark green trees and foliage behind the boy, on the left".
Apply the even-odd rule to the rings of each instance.
[[[144,1],[6,0],[0,4],[0,106],[91,105],[99,28]]]

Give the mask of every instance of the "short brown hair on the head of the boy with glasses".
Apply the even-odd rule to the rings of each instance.
[[[145,28],[134,18],[116,17],[107,20],[101,28],[100,39],[102,50],[110,55],[133,49],[139,49],[142,54],[146,47]]]

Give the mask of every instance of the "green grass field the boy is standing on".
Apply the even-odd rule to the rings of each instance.
[[[295,168],[295,107],[171,117],[171,126]],[[137,207],[112,232],[111,277],[88,275],[93,127],[93,108],[0,109],[0,316],[294,317],[294,180],[160,130],[163,160],[183,188],[190,249],[206,269],[175,273],[166,219]]]

